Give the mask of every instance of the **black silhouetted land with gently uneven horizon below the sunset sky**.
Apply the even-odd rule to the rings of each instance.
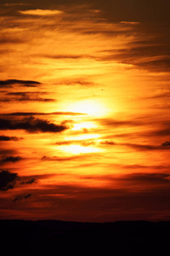
[[[2,255],[170,256],[170,222],[0,220],[0,233]]]

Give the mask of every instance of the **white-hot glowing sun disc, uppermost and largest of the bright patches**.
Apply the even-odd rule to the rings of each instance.
[[[80,102],[74,102],[70,106],[70,111],[77,113],[87,113],[92,116],[105,115],[106,108],[102,102],[97,100],[84,100]]]

